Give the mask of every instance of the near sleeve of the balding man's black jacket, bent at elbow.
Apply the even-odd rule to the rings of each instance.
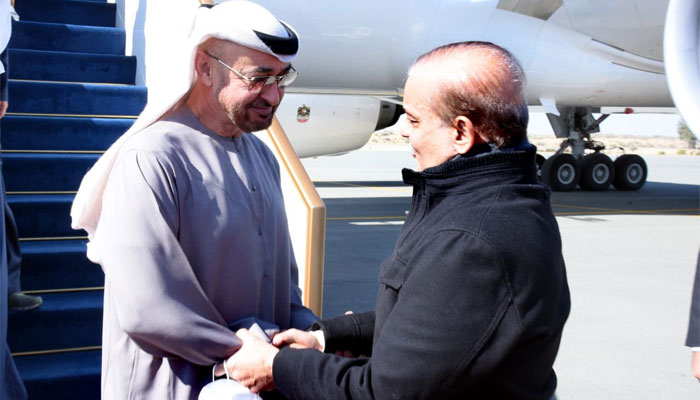
[[[372,357],[282,349],[273,363],[278,390],[290,399],[440,398],[495,369],[508,344],[499,341],[487,359],[479,357],[512,305],[498,252],[455,230],[435,235],[414,254],[382,266],[379,290],[395,295],[396,303]]]

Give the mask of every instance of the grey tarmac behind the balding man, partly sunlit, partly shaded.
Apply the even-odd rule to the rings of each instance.
[[[555,364],[567,399],[697,399],[683,346],[700,249],[700,157],[649,156],[639,191],[554,193],[572,295]],[[406,151],[304,160],[327,207],[324,316],[374,306],[410,206]]]

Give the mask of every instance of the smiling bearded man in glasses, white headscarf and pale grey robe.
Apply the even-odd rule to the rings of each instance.
[[[249,132],[296,77],[296,33],[245,1],[198,13],[188,90],[108,150],[74,226],[105,272],[103,399],[193,399],[235,330],[305,329],[279,166]],[[190,84],[191,83],[191,84]]]

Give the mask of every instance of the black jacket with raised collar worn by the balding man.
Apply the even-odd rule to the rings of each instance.
[[[381,266],[375,312],[319,324],[326,352],[371,357],[282,349],[273,364],[280,392],[551,398],[570,299],[550,192],[537,182],[534,146],[470,153],[421,173],[404,170],[413,203]]]

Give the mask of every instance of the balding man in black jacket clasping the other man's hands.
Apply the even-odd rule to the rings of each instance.
[[[240,331],[235,379],[290,399],[552,397],[570,299],[523,84],[517,60],[491,43],[416,61],[404,92],[413,204],[376,310],[283,332],[273,343],[291,346],[279,350]],[[327,354],[348,349],[365,356]]]

